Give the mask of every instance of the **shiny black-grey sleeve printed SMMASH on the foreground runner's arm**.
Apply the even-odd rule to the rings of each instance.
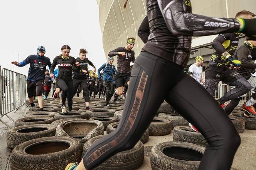
[[[240,27],[240,23],[234,18],[212,18],[193,14],[191,3],[187,4],[186,0],[157,0],[157,2],[167,27],[174,35],[214,35],[237,32]]]

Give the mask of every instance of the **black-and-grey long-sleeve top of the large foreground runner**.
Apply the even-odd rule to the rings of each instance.
[[[149,24],[141,25],[143,27],[140,30],[147,30],[149,27],[150,34],[142,51],[182,67],[187,65],[189,59],[192,39],[190,36],[236,32],[240,26],[233,18],[193,14],[191,3],[187,0],[147,0],[147,11]]]

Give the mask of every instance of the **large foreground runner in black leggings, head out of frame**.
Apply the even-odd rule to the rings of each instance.
[[[194,15],[188,2],[147,0],[149,25],[143,27],[150,28],[150,36],[133,65],[123,116],[114,132],[93,143],[77,170],[91,170],[114,154],[133,148],[163,100],[196,125],[207,140],[199,170],[231,168],[240,137],[216,100],[184,74],[183,68],[190,55],[190,36],[237,31],[252,35],[256,33],[256,22]],[[158,88],[159,82],[162,88]]]

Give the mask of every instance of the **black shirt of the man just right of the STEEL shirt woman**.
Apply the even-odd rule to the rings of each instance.
[[[80,67],[83,70],[87,70],[88,64],[91,65],[92,67],[94,66],[93,63],[88,58],[85,58],[84,60],[81,60],[79,57],[77,57],[76,61],[80,63]],[[72,70],[74,71],[73,72],[73,78],[76,78],[76,79],[85,79],[85,78],[87,78],[86,77],[87,74],[84,74],[83,72],[80,72],[79,70],[77,70],[77,67],[75,65],[73,65]]]

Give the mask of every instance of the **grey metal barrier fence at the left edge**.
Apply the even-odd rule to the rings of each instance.
[[[7,116],[15,122],[7,114],[19,109],[25,104],[26,95],[26,76],[17,72],[13,72],[6,68],[1,69],[1,85],[0,85],[0,121],[7,127],[11,128],[1,118]]]

